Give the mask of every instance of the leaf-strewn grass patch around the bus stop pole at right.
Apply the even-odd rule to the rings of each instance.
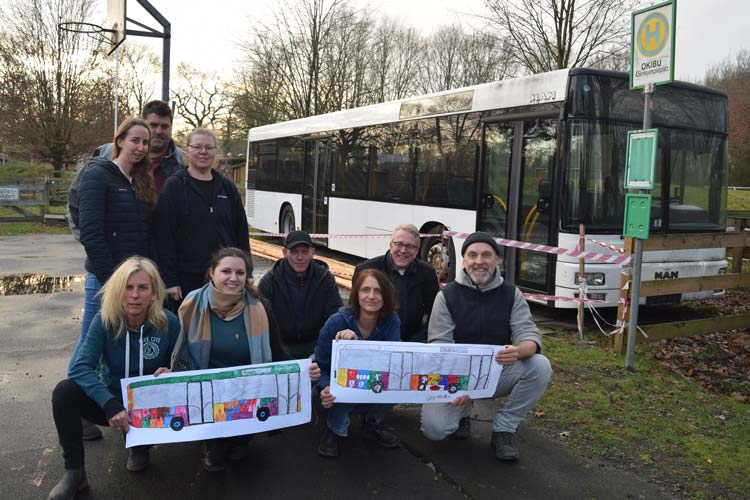
[[[555,368],[534,427],[572,448],[649,474],[679,497],[745,498],[750,406],[713,394],[638,346],[635,372],[604,341],[545,335]]]

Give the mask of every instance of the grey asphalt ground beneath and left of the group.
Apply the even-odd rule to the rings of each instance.
[[[68,235],[0,237],[0,280],[14,277],[1,283],[18,284],[23,273],[71,277],[58,280],[60,291],[19,294],[24,287],[14,286],[14,295],[0,295],[2,499],[46,498],[62,473],[50,395],[65,376],[80,331],[83,261],[81,246]],[[256,278],[270,267],[262,259],[255,264]],[[27,279],[32,285],[43,281]],[[470,439],[433,443],[419,432],[419,407],[402,405],[386,423],[403,446],[386,450],[363,441],[354,420],[340,458],[324,459],[315,453],[317,420],[255,436],[248,457],[218,474],[203,470],[199,443],[155,446],[146,470],[128,472],[122,434],[104,429],[104,439],[86,443],[91,488],[77,498],[671,498],[636,475],[581,460],[523,426],[520,463],[500,463],[489,447],[491,422],[492,402],[479,402]]]

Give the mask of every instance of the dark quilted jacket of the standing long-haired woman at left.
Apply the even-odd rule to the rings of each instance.
[[[78,210],[86,270],[102,285],[123,259],[151,256],[149,204],[136,198],[133,186],[111,161],[95,158],[86,167]]]

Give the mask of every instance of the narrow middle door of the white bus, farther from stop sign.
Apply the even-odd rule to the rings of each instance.
[[[335,157],[330,139],[305,141],[305,175],[302,187],[302,229],[308,233],[328,232],[328,196]],[[327,239],[314,239],[328,246]]]

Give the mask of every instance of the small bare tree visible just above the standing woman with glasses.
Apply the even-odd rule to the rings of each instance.
[[[177,78],[172,93],[177,114],[191,127],[219,128],[228,104],[222,80],[184,62],[177,66]]]

